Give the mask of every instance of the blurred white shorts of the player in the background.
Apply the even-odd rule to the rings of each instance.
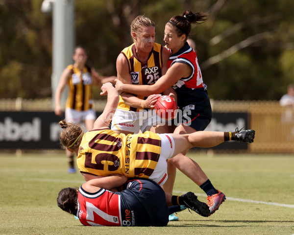
[[[79,123],[84,120],[96,119],[96,113],[93,109],[87,111],[76,111],[74,109],[65,109],[65,119],[72,123]]]

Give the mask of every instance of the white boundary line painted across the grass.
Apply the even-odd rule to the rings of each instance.
[[[81,180],[60,180],[60,179],[42,179],[42,178],[23,178],[23,180],[28,181],[42,181],[42,182],[64,182],[64,183],[78,183],[83,184],[85,181]],[[186,193],[183,191],[174,191],[175,193]],[[203,196],[207,197],[204,193],[197,193],[197,196]],[[278,207],[288,207],[288,208],[294,208],[294,205],[291,204],[280,204],[275,202],[263,202],[263,201],[255,201],[250,199],[242,199],[242,198],[234,198],[234,197],[226,197],[226,200],[229,201],[236,201],[236,202],[247,202],[247,203],[255,203],[255,204],[266,204],[266,205],[272,205],[272,206],[278,206]]]

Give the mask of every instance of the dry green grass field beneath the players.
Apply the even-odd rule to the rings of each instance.
[[[0,235],[293,235],[294,156],[190,153],[227,200],[205,218],[188,210],[167,227],[84,227],[61,211],[61,188],[79,187],[63,152],[0,154]],[[178,172],[174,194],[203,191]]]

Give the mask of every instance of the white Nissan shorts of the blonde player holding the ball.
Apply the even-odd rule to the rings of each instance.
[[[117,109],[111,121],[111,130],[129,131],[137,134],[140,130],[144,133],[157,124],[164,125],[165,120],[159,118],[155,110],[133,112]]]

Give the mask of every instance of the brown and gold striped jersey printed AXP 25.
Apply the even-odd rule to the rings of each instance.
[[[126,47],[121,52],[128,62],[128,70],[134,85],[152,85],[161,77],[162,68],[162,50],[163,47],[158,44],[153,44],[153,49],[150,52],[146,63],[141,63],[136,54],[135,44]],[[144,95],[137,95],[140,99],[146,99]],[[139,108],[130,107],[123,102],[120,96],[118,109],[138,112]]]

